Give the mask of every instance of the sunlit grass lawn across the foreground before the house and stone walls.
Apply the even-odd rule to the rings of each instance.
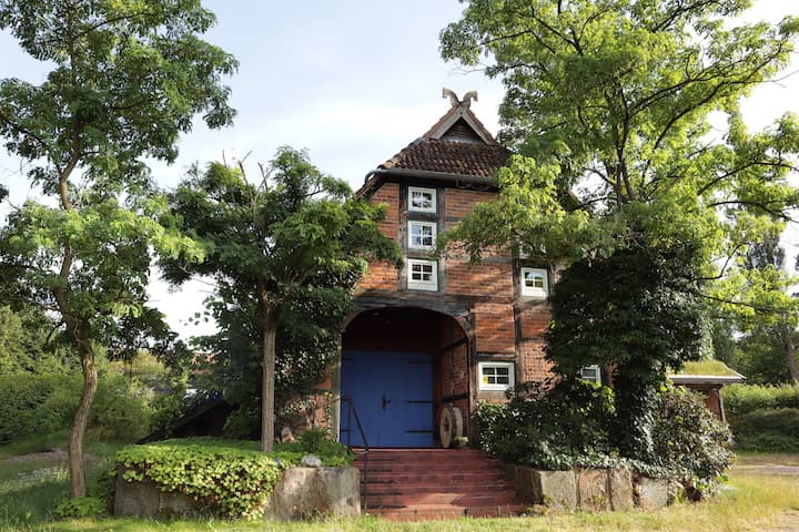
[[[110,466],[113,446],[90,444],[90,475],[99,475]],[[0,456],[8,450],[0,449]],[[799,463],[799,456],[747,454],[742,463]],[[549,514],[518,519],[463,519],[423,523],[391,523],[364,516],[352,521],[312,523],[249,523],[243,521],[148,521],[138,519],[98,519],[58,521],[55,503],[69,493],[69,480],[62,458],[0,460],[0,531],[271,531],[286,532],[455,532],[455,531],[787,531],[799,530],[799,479],[745,471],[732,471],[729,484],[710,501],[677,504],[657,512],[617,512],[601,514]]]

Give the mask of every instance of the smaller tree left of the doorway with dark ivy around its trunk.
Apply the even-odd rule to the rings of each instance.
[[[285,400],[322,380],[367,259],[398,263],[401,255],[377,228],[384,207],[354,197],[345,182],[311,164],[307,153],[284,146],[261,171],[251,182],[243,165],[194,168],[170,204],[205,260],[164,266],[173,282],[191,274],[216,282],[212,313],[221,331],[205,346],[240,413],[257,423],[260,412],[269,451],[276,383],[277,398]]]

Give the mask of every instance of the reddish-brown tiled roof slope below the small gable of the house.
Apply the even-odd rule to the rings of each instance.
[[[497,144],[423,136],[380,167],[490,177],[509,155],[508,150]]]

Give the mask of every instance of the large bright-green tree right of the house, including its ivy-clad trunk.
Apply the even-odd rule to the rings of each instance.
[[[739,103],[788,64],[799,20],[741,23],[748,0],[466,3],[442,54],[489,58],[506,89],[502,137],[518,154],[498,174],[499,200],[441,245],[567,265],[547,356],[572,376],[615,365],[621,451],[648,459],[664,368],[699,356],[702,304],[796,315],[785,274],[745,259],[799,203],[787,181],[799,120],[752,133]]]

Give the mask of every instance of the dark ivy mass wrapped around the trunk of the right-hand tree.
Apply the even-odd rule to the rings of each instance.
[[[625,457],[654,458],[657,390],[669,368],[708,349],[698,275],[690,246],[620,249],[573,263],[549,298],[546,357],[566,378],[583,366],[614,368],[611,429]]]

